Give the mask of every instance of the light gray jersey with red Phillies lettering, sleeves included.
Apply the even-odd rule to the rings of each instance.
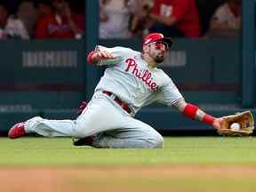
[[[117,60],[101,60],[100,66],[107,65],[95,92],[113,92],[126,102],[135,114],[140,108],[158,101],[172,106],[183,99],[172,79],[160,68],[148,68],[141,52],[130,48],[107,48],[98,46],[100,51],[111,52]]]

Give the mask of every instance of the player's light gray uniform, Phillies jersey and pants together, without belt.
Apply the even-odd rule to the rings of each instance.
[[[101,60],[107,65],[92,100],[76,120],[49,120],[40,116],[28,119],[26,132],[45,137],[72,136],[84,138],[94,135],[92,146],[97,148],[159,148],[163,137],[148,124],[135,119],[118,106],[114,97],[102,91],[113,92],[129,104],[132,115],[154,101],[172,106],[183,99],[179,90],[162,69],[148,68],[141,53],[124,47],[100,50],[112,52],[116,60]],[[106,112],[107,110],[107,112]]]

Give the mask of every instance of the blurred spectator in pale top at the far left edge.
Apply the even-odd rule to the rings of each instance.
[[[0,39],[28,39],[23,22],[10,15],[4,3],[0,3]]]

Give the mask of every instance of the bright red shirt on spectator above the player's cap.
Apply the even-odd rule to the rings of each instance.
[[[200,20],[195,0],[155,0],[152,13],[176,18],[176,28],[185,36],[200,36]]]

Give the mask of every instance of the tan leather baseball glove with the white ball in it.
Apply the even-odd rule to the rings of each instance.
[[[218,133],[223,136],[248,136],[254,129],[254,119],[250,110],[230,116],[222,116],[223,122]]]

